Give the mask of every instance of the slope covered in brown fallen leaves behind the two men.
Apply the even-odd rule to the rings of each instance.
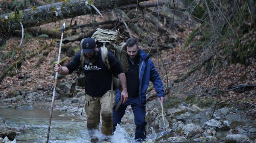
[[[99,18],[96,17],[98,20]],[[84,21],[91,21],[90,16],[78,16],[73,19],[77,25],[84,24]],[[65,22],[66,26],[70,24],[71,19],[66,19],[58,22],[52,22],[49,24],[41,25],[42,29],[59,30],[62,23]],[[186,21],[180,26],[184,31],[171,30],[177,40],[175,40],[174,48],[166,48],[160,50],[160,55],[155,51],[151,51],[152,60],[157,67],[157,70],[161,77],[163,77],[163,84],[167,94],[165,97],[165,104],[168,106],[173,101],[180,103],[200,103],[201,106],[213,107],[216,98],[216,83],[217,76],[211,72],[209,65],[203,64],[203,66],[197,72],[191,74],[186,80],[179,83],[173,83],[174,80],[179,79],[183,74],[189,72],[190,68],[194,66],[201,57],[201,49],[198,47],[187,46],[182,48],[184,41],[189,36],[189,33],[198,24],[193,21]],[[79,32],[79,30],[77,30]],[[70,33],[65,33],[70,34]],[[59,36],[60,37],[60,36]],[[19,36],[12,36],[4,47],[1,48],[2,53],[6,54],[5,58],[2,58],[0,63],[0,71],[4,71],[12,63],[20,59],[20,57],[29,54],[30,52],[37,52],[37,55],[24,60],[20,67],[16,65],[11,72],[6,75],[0,84],[0,105],[12,105],[18,106],[22,103],[30,103],[32,105],[37,104],[50,104],[52,95],[52,86],[54,82],[55,72],[53,72],[53,62],[57,60],[59,42],[52,38],[47,37],[33,37],[29,34],[25,34],[25,38],[22,46],[18,46],[20,43]],[[46,46],[47,45],[47,46]],[[67,47],[75,47],[79,45],[79,41],[64,43]],[[52,48],[48,55],[43,56],[38,52],[40,48],[46,46],[46,48]],[[143,45],[142,45],[143,48]],[[225,56],[223,51],[220,51],[220,56]],[[75,54],[75,53],[74,53]],[[68,53],[62,53],[61,57],[66,57]],[[161,58],[162,57],[162,60]],[[66,62],[72,60],[69,57]],[[217,109],[225,106],[236,106],[243,109],[248,107],[255,107],[256,99],[256,59],[251,58],[249,65],[244,64],[232,64],[228,60],[224,60],[220,65],[219,73],[219,95],[217,102]],[[211,64],[211,63],[210,63]],[[168,73],[168,79],[164,73]],[[11,75],[12,74],[12,75]],[[72,82],[69,81],[77,77],[74,72],[69,74],[67,78],[58,79],[58,83]],[[212,81],[213,79],[213,81]],[[152,83],[151,83],[152,84]],[[238,87],[238,88],[237,88]],[[206,90],[207,89],[207,90]],[[229,90],[230,89],[230,90]],[[204,90],[206,90],[204,92]],[[27,102],[26,100],[11,100],[14,96],[14,92],[18,91],[20,95],[27,95],[30,92],[37,92],[42,96],[40,100],[34,100]],[[153,90],[148,92],[148,96],[154,96],[156,92]],[[196,100],[198,97],[200,99]],[[196,100],[196,101],[195,101]],[[62,105],[62,100],[56,100],[56,105]],[[66,106],[68,106],[67,104]],[[252,121],[256,119],[256,110],[250,112]],[[253,116],[254,114],[254,116]]]

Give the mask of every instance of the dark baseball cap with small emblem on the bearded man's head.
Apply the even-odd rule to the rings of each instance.
[[[83,39],[83,42],[82,42],[83,53],[92,54],[95,46],[96,46],[96,42],[93,38]]]

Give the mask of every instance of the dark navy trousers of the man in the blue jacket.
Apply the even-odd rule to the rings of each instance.
[[[146,140],[146,107],[141,106],[139,102],[139,97],[128,98],[128,100],[121,104],[117,111],[113,110],[113,130],[116,130],[116,125],[120,124],[123,115],[125,114],[125,109],[128,105],[131,105],[134,114],[134,122],[136,125],[135,140],[142,142]]]

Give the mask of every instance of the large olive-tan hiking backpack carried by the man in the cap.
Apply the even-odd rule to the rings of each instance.
[[[114,56],[117,58],[117,61],[120,63],[124,72],[128,71],[128,61],[127,61],[127,45],[123,42],[122,36],[119,35],[118,32],[111,31],[111,30],[102,30],[101,28],[97,28],[96,31],[93,33],[92,38],[95,39],[98,48],[101,48],[101,56],[103,63],[108,67],[109,70],[110,64],[108,62],[108,51],[112,52]],[[118,37],[118,39],[117,39]],[[82,41],[81,41],[82,43]],[[81,46],[81,44],[80,44]],[[81,51],[80,54],[80,61],[81,61],[81,68],[82,71],[84,70],[84,56]],[[113,73],[114,74],[114,73]],[[120,81],[117,78],[117,75],[114,74],[114,84],[116,88],[120,87]],[[85,78],[80,77],[76,80],[76,85],[84,87],[85,86]]]

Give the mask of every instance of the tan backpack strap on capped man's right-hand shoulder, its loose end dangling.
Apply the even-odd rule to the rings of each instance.
[[[108,49],[105,47],[105,44],[103,45],[103,47],[101,47],[101,58],[103,63],[108,67],[108,70],[110,70],[110,64],[108,61]],[[112,107],[113,105],[113,94],[114,94],[114,74],[112,73],[112,81],[111,81],[111,95],[110,95],[110,107]],[[111,112],[111,109],[109,109],[109,112]]]

